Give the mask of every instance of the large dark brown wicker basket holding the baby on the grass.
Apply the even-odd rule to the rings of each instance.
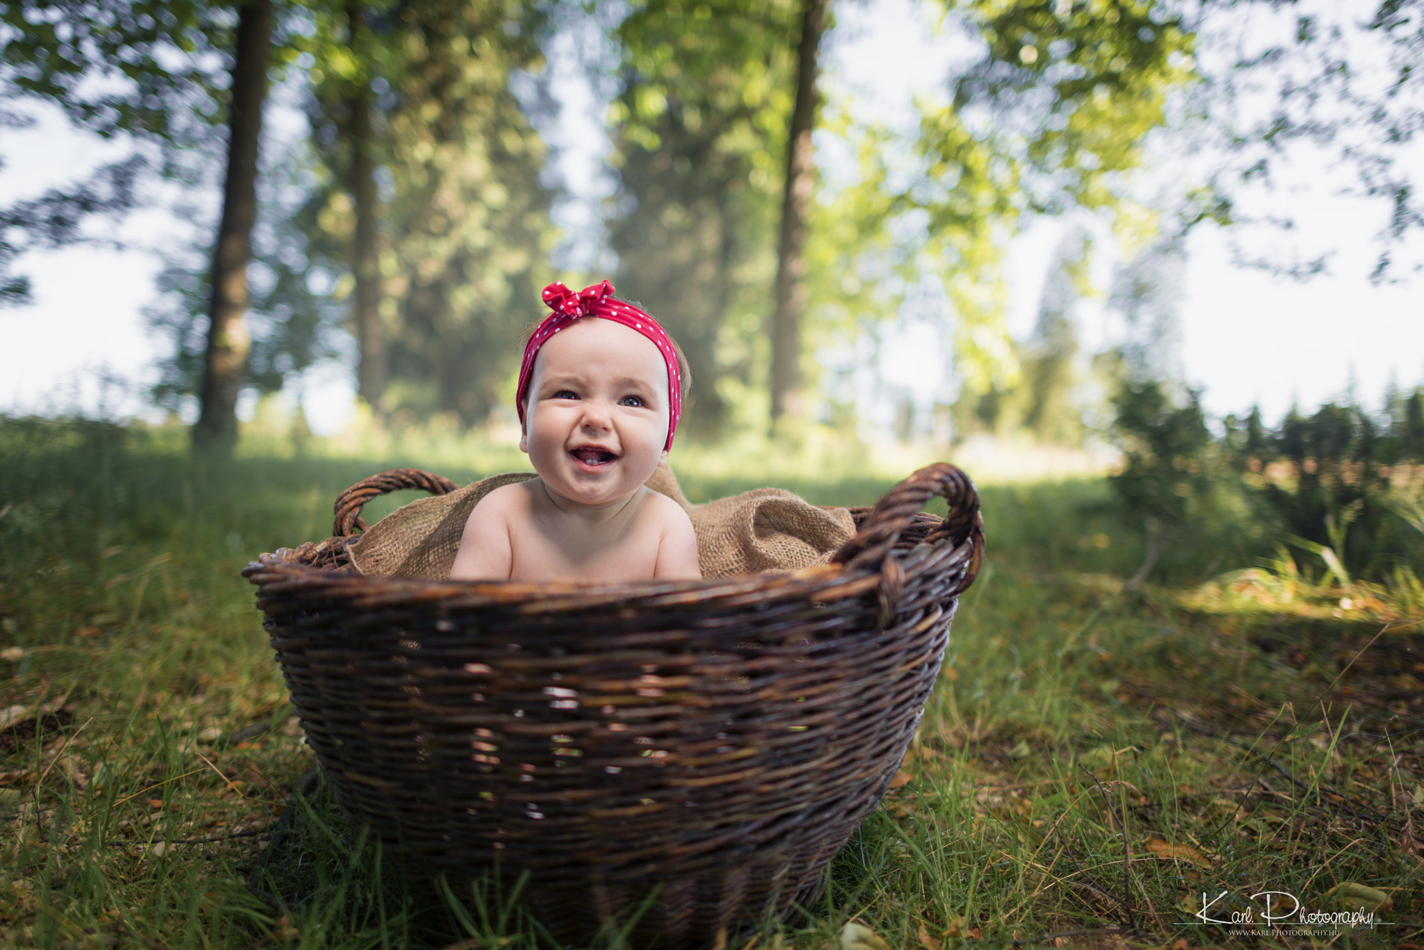
[[[337,800],[409,872],[525,873],[564,943],[722,943],[815,900],[894,775],[978,573],[978,497],[921,469],[827,565],[722,580],[481,584],[355,574],[346,537],[263,554],[265,627]],[[920,513],[936,494],[941,520]],[[655,890],[654,890],[655,889]],[[654,894],[651,903],[645,903]]]

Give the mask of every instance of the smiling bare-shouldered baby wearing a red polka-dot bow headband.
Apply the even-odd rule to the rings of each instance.
[[[451,580],[702,575],[686,511],[644,486],[668,459],[688,375],[658,322],[612,292],[544,288],[554,313],[524,346],[514,396],[538,476],[474,506]]]

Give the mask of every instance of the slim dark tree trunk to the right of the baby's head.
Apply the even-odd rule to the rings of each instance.
[[[776,312],[772,315],[772,423],[800,413],[800,320],[806,310],[806,216],[816,184],[810,132],[816,121],[816,57],[829,0],[803,0],[796,70],[796,107],[786,141],[786,192],[776,249]]]

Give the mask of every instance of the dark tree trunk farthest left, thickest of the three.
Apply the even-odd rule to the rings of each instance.
[[[249,0],[238,13],[228,107],[228,175],[222,221],[212,254],[212,306],[204,359],[202,412],[194,446],[231,451],[238,439],[238,390],[246,373],[251,339],[242,323],[248,309],[248,261],[256,219],[258,140],[266,97],[272,0]]]

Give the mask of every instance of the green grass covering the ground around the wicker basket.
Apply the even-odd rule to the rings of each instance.
[[[379,469],[520,467],[507,446],[402,439],[253,439],[205,466],[168,430],[0,420],[0,946],[538,943],[517,894],[407,892],[320,790],[286,810],[312,756],[241,567],[323,537],[336,491]],[[675,464],[693,499],[779,483],[863,504],[894,481],[833,446],[745,457]],[[1418,593],[1290,575],[1230,526],[1175,546],[1171,587],[1129,591],[1141,543],[1101,480],[983,496],[987,570],[897,788],[826,899],[760,946],[823,947],[852,919],[896,950],[1424,943]],[[1213,578],[1229,568],[1256,574]],[[1206,916],[1259,917],[1265,890],[1333,912],[1350,884],[1351,909],[1388,897],[1390,926],[1193,919],[1202,894]]]

